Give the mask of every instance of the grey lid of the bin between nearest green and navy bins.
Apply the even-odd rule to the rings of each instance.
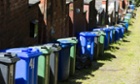
[[[61,47],[59,46],[58,43],[47,43],[47,44],[44,44],[43,46],[46,46],[47,48],[49,48],[50,52],[58,52],[61,50]]]

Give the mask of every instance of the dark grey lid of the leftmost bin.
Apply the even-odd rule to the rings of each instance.
[[[0,53],[0,63],[16,63],[20,58],[15,53]]]

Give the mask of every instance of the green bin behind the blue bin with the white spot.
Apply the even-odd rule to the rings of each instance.
[[[98,47],[98,49],[99,49],[98,50],[98,56],[103,56],[103,54],[104,54],[105,33],[103,31],[101,31],[100,29],[93,29],[93,32],[98,32],[98,35],[99,35],[99,39],[98,39],[98,43],[99,43],[99,45],[98,45],[99,46]],[[94,51],[94,52],[96,52],[96,51]]]

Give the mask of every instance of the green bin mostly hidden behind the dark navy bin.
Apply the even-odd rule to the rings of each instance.
[[[75,73],[75,61],[76,61],[76,45],[78,40],[76,37],[68,37],[68,38],[61,38],[58,40],[68,40],[73,45],[70,48],[70,75],[74,75]]]

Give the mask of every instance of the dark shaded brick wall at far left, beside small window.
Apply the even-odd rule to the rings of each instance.
[[[31,38],[30,21],[38,19],[38,6],[28,0],[0,0],[0,49],[37,44]]]

